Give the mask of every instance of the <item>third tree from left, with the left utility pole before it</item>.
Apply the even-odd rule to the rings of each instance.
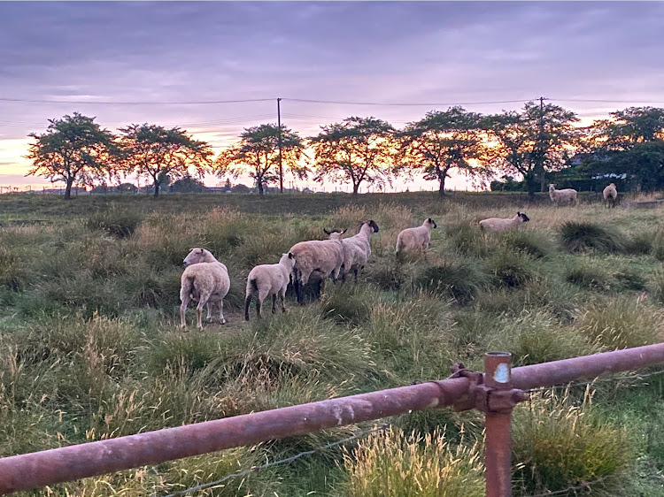
[[[299,179],[309,171],[300,160],[305,156],[299,135],[282,125],[282,165]],[[249,168],[260,196],[268,185],[279,180],[279,126],[263,124],[245,128],[240,141],[220,153],[214,163],[218,175],[231,174],[235,179]]]

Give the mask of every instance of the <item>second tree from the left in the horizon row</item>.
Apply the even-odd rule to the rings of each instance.
[[[167,177],[177,180],[189,175],[190,169],[202,177],[211,163],[210,145],[193,140],[179,127],[134,124],[120,128],[120,133],[123,172],[151,178],[155,198]]]

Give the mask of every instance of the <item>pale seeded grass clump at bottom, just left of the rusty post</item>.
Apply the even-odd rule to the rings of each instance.
[[[442,432],[406,436],[399,430],[359,442],[344,455],[349,497],[473,497],[484,494],[476,446],[449,446]]]

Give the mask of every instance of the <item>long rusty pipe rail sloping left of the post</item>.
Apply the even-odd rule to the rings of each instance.
[[[452,405],[467,378],[266,410],[0,459],[0,494]]]

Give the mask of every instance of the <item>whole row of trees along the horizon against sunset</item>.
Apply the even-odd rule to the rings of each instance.
[[[211,146],[180,127],[133,124],[112,134],[79,112],[49,119],[43,134],[29,134],[28,175],[94,185],[135,174],[153,182],[154,196],[165,181],[206,172],[235,179],[248,173],[260,195],[283,187],[283,173],[298,179],[384,186],[396,177],[438,182],[444,194],[452,172],[493,180],[491,189],[525,189],[533,197],[547,180],[574,187],[607,178],[619,187],[652,190],[664,186],[664,109],[629,107],[591,126],[576,126],[573,111],[552,103],[525,103],[520,111],[494,115],[459,106],[429,111],[402,129],[374,117],[350,117],[320,126],[303,138],[286,126],[245,128],[239,141],[213,157]],[[312,154],[313,152],[313,154]],[[514,177],[522,178],[515,181]],[[604,185],[602,185],[603,187]]]

